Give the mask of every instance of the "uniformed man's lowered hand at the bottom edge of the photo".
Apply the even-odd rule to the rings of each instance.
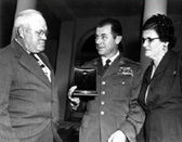
[[[108,142],[126,142],[126,141],[127,138],[120,130],[115,131],[108,139]]]

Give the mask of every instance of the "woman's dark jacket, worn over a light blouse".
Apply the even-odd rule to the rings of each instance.
[[[139,101],[146,113],[146,142],[182,141],[182,56],[169,50],[151,79],[146,69]],[[150,85],[146,102],[146,88]]]

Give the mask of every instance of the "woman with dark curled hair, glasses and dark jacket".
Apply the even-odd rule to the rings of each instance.
[[[145,142],[182,142],[182,57],[171,20],[157,14],[143,25],[145,55],[152,59],[143,77],[139,102],[146,114]]]

